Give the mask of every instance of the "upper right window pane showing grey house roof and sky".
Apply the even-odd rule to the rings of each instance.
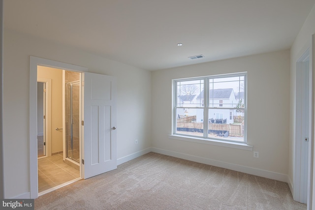
[[[244,85],[244,76],[210,79],[209,107],[244,108]]]

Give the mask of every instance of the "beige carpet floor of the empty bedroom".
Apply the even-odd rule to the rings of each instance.
[[[305,210],[288,184],[150,152],[35,199],[42,210]]]

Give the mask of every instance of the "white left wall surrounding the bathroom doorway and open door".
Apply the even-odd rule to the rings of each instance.
[[[30,192],[30,56],[85,66],[90,72],[116,76],[117,156],[122,158],[151,147],[151,72],[4,29],[3,156],[6,198]],[[135,139],[138,139],[138,145],[135,145]]]

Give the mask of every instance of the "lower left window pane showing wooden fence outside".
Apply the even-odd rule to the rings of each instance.
[[[176,109],[176,133],[203,136],[203,109]]]

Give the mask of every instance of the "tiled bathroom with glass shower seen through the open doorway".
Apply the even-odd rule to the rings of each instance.
[[[69,84],[71,88],[67,89]],[[37,66],[37,156],[44,150],[37,161],[39,195],[81,178],[80,84],[80,72]],[[71,137],[71,152],[67,136]]]

